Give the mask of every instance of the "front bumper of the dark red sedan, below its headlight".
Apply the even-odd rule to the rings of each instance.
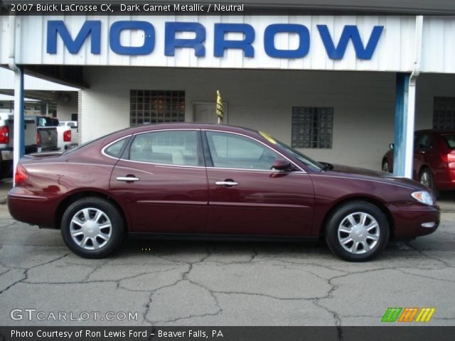
[[[439,207],[419,202],[389,207],[395,222],[396,238],[414,238],[431,234],[439,227],[441,212]]]

